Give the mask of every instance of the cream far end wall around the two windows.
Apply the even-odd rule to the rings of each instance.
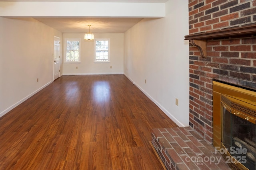
[[[63,75],[123,74],[124,73],[124,34],[94,33],[94,38],[110,39],[110,62],[94,62],[94,41],[84,40],[84,33],[63,33],[65,38],[81,39],[81,62],[63,63]],[[64,41],[62,43],[64,45]],[[64,49],[64,48],[63,48]],[[64,51],[63,51],[64,54]],[[110,68],[112,66],[112,68]],[[76,69],[78,67],[78,69]]]

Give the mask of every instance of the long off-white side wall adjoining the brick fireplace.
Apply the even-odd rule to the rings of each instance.
[[[189,125],[189,42],[184,35],[188,1],[183,0],[169,0],[165,18],[143,19],[124,34],[124,74],[179,126]]]

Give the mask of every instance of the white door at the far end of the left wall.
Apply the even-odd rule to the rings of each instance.
[[[54,75],[53,80],[60,77],[60,38],[54,36]]]

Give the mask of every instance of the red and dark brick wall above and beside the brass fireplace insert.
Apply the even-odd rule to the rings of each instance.
[[[256,24],[256,0],[189,0],[189,33]],[[212,143],[212,80],[256,90],[256,35],[190,44],[190,126]]]

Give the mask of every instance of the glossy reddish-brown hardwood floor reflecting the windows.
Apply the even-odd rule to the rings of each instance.
[[[151,129],[165,127],[124,75],[62,76],[0,118],[0,170],[161,170]]]

